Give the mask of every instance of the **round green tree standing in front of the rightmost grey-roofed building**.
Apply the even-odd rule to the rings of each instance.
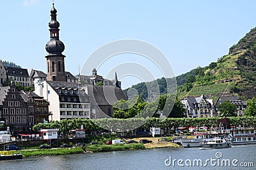
[[[224,101],[219,106],[221,117],[236,117],[236,105],[230,101]]]

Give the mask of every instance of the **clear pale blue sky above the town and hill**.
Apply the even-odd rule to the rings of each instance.
[[[178,76],[227,55],[230,46],[256,25],[253,0],[55,0],[54,6],[60,22],[60,40],[65,44],[66,71],[76,75],[83,67],[90,71],[95,67],[98,74],[109,79],[115,78],[113,68],[122,68],[126,62],[146,67],[154,78],[163,76],[154,60],[136,53],[122,53],[100,65],[95,62],[95,66],[84,66],[95,50],[109,42],[145,41],[164,53]],[[51,8],[51,0],[1,1],[1,60],[46,72],[45,44],[49,41]],[[116,71],[122,89],[150,81],[134,73],[129,76],[131,69],[125,67],[127,73],[122,75]]]

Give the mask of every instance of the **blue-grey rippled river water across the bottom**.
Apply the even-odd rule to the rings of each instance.
[[[256,169],[255,148],[256,145],[208,150],[159,148],[30,157],[1,161],[0,169]]]

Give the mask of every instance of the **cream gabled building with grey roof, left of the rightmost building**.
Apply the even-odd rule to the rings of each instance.
[[[203,94],[200,97],[184,97],[184,99],[181,100],[181,103],[189,118],[218,117],[212,99],[207,99]]]

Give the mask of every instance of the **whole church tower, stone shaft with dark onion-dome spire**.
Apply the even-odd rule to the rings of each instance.
[[[62,52],[65,45],[59,39],[60,23],[57,21],[57,10],[52,3],[51,21],[49,22],[50,41],[45,45],[45,50],[49,53],[47,59],[47,78],[48,81],[67,81],[65,75],[65,55]]]

